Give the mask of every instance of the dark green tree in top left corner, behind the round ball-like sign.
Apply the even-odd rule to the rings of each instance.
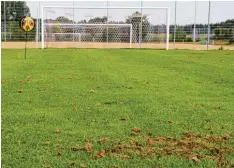
[[[1,1],[1,9],[1,20],[18,21],[24,16],[30,16],[30,10],[25,1]],[[6,18],[4,18],[4,13]]]

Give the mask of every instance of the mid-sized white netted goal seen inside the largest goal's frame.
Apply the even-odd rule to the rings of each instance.
[[[132,44],[132,24],[61,24],[45,23],[44,45],[56,42]]]

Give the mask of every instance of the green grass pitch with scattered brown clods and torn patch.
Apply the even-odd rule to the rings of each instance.
[[[2,50],[3,168],[234,166],[234,51],[27,52]]]

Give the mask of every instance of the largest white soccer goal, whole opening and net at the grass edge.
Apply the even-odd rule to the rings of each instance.
[[[42,48],[169,49],[167,7],[42,7]]]

